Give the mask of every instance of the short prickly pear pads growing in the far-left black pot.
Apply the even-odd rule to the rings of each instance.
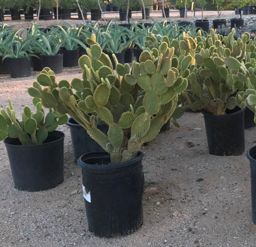
[[[38,88],[38,82],[34,86]],[[22,113],[22,121],[16,118],[15,110],[11,99],[8,99],[9,106],[6,110],[0,110],[0,140],[6,137],[19,138],[22,145],[43,143],[48,132],[54,131],[58,125],[67,122],[68,116],[54,112],[52,108],[45,114],[40,100],[35,98],[33,103],[37,110],[32,112],[29,106],[25,106]]]

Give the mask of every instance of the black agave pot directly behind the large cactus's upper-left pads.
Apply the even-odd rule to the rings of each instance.
[[[63,54],[44,55],[41,54],[43,67],[50,67],[56,74],[63,71]]]

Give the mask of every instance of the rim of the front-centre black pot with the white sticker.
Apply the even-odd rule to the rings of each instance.
[[[82,167],[82,168],[89,168],[89,169],[92,169],[92,170],[108,170],[108,169],[115,169],[115,168],[121,168],[121,167],[125,167],[125,166],[129,166],[131,164],[134,164],[140,160],[142,160],[143,156],[144,156],[144,153],[139,151],[138,152],[138,156],[136,158],[133,158],[131,160],[128,160],[128,161],[125,161],[125,162],[122,162],[122,163],[110,163],[110,164],[104,164],[104,165],[101,165],[101,164],[89,164],[89,163],[85,163],[84,161],[82,161],[82,158],[86,155],[89,155],[89,154],[93,154],[95,152],[89,152],[89,153],[84,153],[83,155],[81,155],[78,160],[77,160],[77,163]],[[102,154],[102,155],[109,155],[109,153],[107,152],[98,152],[98,153],[95,153],[95,154],[98,154],[98,157],[93,157],[92,158],[100,158],[100,155],[99,154]]]

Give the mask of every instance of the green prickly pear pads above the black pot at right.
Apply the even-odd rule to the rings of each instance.
[[[190,66],[188,88],[182,92],[186,107],[224,115],[226,109],[236,106],[235,97],[230,95],[244,87],[249,34],[245,32],[235,40],[234,32],[232,29],[223,37],[211,29],[204,42],[196,43],[195,64]]]

